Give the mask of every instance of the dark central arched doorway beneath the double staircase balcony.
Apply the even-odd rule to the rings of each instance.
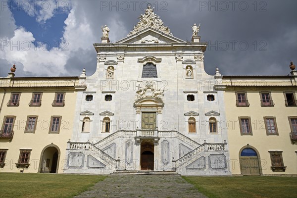
[[[141,156],[140,156],[140,165],[141,170],[153,170],[153,150],[154,145],[150,141],[143,141],[141,143]]]

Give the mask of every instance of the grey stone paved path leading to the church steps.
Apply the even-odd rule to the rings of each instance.
[[[172,175],[110,175],[75,198],[206,198]]]

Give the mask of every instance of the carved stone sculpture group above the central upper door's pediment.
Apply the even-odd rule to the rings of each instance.
[[[163,103],[164,90],[155,89],[153,85],[153,82],[147,81],[145,88],[139,88],[136,92],[135,103],[146,98],[151,98]]]

